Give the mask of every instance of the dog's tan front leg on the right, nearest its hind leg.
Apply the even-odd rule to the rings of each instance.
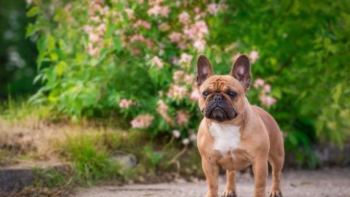
[[[267,159],[257,159],[253,163],[253,172],[255,179],[254,197],[266,197]]]

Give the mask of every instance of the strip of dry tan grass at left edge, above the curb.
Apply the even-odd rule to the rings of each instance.
[[[103,127],[96,123],[53,123],[39,116],[21,120],[4,120],[0,117],[0,166],[61,162],[64,146],[69,139],[90,136],[98,143],[103,135],[113,135],[115,140],[128,137],[127,132],[116,127]]]

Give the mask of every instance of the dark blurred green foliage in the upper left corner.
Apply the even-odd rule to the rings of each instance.
[[[32,94],[37,74],[35,37],[25,39],[26,17],[24,0],[0,1],[0,99],[11,95]]]

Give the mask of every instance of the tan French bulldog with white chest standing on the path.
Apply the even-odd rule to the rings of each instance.
[[[219,166],[227,174],[222,196],[235,197],[235,171],[249,165],[255,178],[254,197],[266,197],[268,162],[272,166],[270,197],[281,197],[282,132],[269,113],[250,105],[245,96],[251,85],[249,57],[240,55],[229,75],[214,75],[208,58],[199,55],[196,83],[200,92],[198,104],[204,115],[197,147],[209,186],[206,197],[218,196]]]

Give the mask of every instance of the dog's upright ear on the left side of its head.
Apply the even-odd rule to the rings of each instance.
[[[199,87],[202,85],[202,83],[213,74],[208,58],[205,55],[199,55],[197,59],[197,86]]]

